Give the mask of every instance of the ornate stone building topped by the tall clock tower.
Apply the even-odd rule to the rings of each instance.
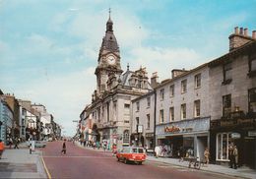
[[[130,145],[131,100],[151,90],[146,68],[126,72],[121,69],[119,46],[113,33],[113,22],[106,23],[105,35],[98,53],[96,67],[96,90],[92,103],[81,115],[92,122],[92,143],[107,141],[108,146],[118,148]],[[86,117],[85,118],[85,115]],[[85,128],[81,132],[86,137]]]

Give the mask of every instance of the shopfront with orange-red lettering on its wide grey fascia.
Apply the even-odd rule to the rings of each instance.
[[[167,146],[169,156],[197,156],[204,158],[209,147],[210,118],[198,118],[161,124],[156,127],[157,145]]]

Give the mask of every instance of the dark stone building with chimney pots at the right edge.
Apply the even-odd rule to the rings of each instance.
[[[256,167],[256,31],[229,36],[230,51],[209,63],[211,158],[229,161],[236,145],[239,165]]]

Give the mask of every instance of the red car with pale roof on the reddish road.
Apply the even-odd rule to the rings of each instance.
[[[116,153],[117,161],[123,161],[128,163],[133,161],[138,164],[142,164],[146,160],[146,153],[143,148],[125,147]]]

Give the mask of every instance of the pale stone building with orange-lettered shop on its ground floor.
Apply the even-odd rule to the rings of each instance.
[[[156,140],[172,157],[203,158],[210,143],[209,68],[173,70],[156,88]]]

